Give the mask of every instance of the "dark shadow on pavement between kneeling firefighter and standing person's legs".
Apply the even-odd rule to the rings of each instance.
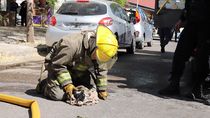
[[[109,83],[117,84],[119,88],[137,89],[139,92],[164,97],[158,90],[167,86],[170,77],[173,53],[160,53],[159,51],[138,50],[135,55],[119,52],[118,61],[109,71],[109,75],[118,79],[110,79]],[[181,82],[182,84],[182,82]],[[185,86],[185,85],[183,85]],[[181,91],[189,88],[181,88]],[[183,96],[171,98],[189,100]]]

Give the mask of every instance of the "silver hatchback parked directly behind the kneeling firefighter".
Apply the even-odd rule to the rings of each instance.
[[[125,48],[128,53],[135,52],[134,32],[125,10],[119,4],[105,0],[64,2],[51,17],[46,44],[52,46],[69,33],[95,30],[99,24],[107,26],[116,35],[119,48]]]

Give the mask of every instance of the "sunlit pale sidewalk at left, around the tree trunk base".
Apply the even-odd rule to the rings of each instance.
[[[45,44],[46,29],[34,29],[33,44],[26,42],[25,30],[25,27],[0,27],[0,70],[44,59],[38,54],[37,46]]]

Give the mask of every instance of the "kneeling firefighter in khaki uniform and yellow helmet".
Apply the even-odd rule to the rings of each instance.
[[[117,60],[117,50],[115,35],[102,25],[96,33],[84,31],[64,36],[45,58],[48,76],[38,83],[37,92],[52,100],[66,100],[75,87],[91,88],[94,82],[98,97],[105,100],[107,72]]]

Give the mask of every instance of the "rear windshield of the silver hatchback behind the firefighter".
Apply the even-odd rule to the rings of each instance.
[[[58,14],[66,15],[102,15],[107,13],[106,5],[94,2],[64,3],[57,11]]]

